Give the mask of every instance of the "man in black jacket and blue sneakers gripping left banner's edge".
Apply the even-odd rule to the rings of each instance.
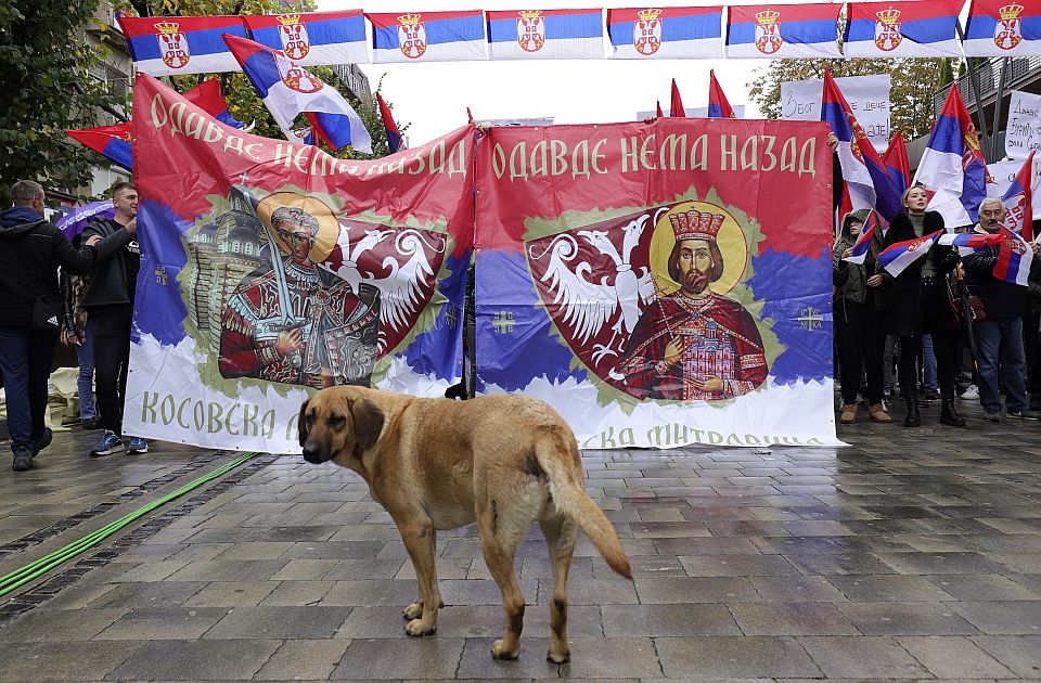
[[[130,326],[133,320],[133,294],[137,288],[141,252],[137,241],[138,192],[129,182],[112,186],[113,218],[100,218],[83,231],[83,236],[102,239],[121,235],[120,248],[108,258],[99,258],[90,289],[83,299],[87,319],[94,330],[94,371],[98,383],[98,412],[105,430],[91,449],[93,456],[118,453],[146,453],[149,443],[140,437],[123,443],[123,403],[127,392],[130,363]]]

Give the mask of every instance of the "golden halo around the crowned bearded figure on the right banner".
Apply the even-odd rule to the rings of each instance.
[[[745,242],[745,233],[741,224],[730,211],[709,202],[682,202],[658,217],[654,224],[654,234],[651,236],[651,272],[654,275],[654,286],[661,295],[672,294],[680,288],[679,283],[669,275],[669,255],[676,245],[676,234],[672,232],[669,215],[690,210],[722,214],[725,217],[716,237],[716,245],[723,257],[723,275],[709,284],[709,288],[716,294],[727,294],[741,282],[745,274],[748,263],[748,244]]]

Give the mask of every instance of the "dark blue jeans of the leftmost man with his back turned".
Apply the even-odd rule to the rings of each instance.
[[[8,402],[11,450],[43,438],[47,381],[57,335],[29,327],[0,327],[0,372]]]

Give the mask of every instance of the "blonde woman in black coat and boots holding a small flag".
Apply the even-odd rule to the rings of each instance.
[[[964,427],[965,418],[954,410],[954,360],[961,333],[950,325],[950,305],[947,275],[958,267],[958,252],[938,244],[937,233],[944,230],[943,217],[936,211],[926,211],[929,196],[925,188],[913,185],[901,197],[903,210],[897,214],[886,232],[885,246],[910,242],[895,261],[902,270],[894,276],[885,266],[879,274],[886,284],[889,304],[886,309],[886,326],[900,337],[900,390],[908,404],[905,427],[922,424],[918,413],[918,370],[922,355],[922,335],[933,336],[936,353],[937,378],[940,385],[940,422],[953,427]],[[930,235],[934,235],[930,239]],[[924,256],[910,260],[904,254],[916,248],[926,248]],[[913,254],[912,254],[913,257]],[[881,259],[885,260],[885,259]]]

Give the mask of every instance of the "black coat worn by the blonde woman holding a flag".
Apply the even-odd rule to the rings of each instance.
[[[926,211],[923,235],[934,233],[937,230],[943,230],[943,217],[936,211]],[[892,217],[883,244],[889,247],[898,242],[907,242],[916,237],[911,219],[907,214],[900,211]],[[939,275],[946,275],[958,267],[958,252],[952,247],[934,244],[929,248],[929,256],[934,254],[937,257]],[[885,270],[878,270],[885,281],[888,298],[886,306],[887,332],[901,337],[918,336],[923,334],[924,327],[928,332],[929,326],[940,324],[940,321],[948,319],[949,312],[947,310],[925,311],[922,308],[922,267],[929,256],[923,256],[908,266],[898,278],[894,278]],[[931,325],[927,324],[927,319],[933,321]]]

